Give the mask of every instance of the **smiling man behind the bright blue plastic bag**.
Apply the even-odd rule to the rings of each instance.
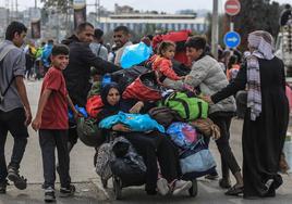
[[[120,66],[120,60],[124,52],[125,47],[131,46],[130,30],[126,26],[118,26],[113,30],[113,41],[118,50],[115,51],[114,64]]]

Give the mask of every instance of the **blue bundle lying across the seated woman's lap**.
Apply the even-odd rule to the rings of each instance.
[[[163,126],[150,118],[148,114],[129,114],[119,112],[117,115],[109,116],[99,123],[99,128],[110,129],[115,124],[124,124],[132,131],[158,130],[165,132]]]

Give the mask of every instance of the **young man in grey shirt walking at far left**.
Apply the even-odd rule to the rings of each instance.
[[[24,190],[26,179],[20,176],[19,168],[27,143],[27,126],[32,113],[24,85],[25,53],[21,49],[27,28],[19,22],[12,22],[5,31],[5,40],[0,44],[0,193],[5,193],[7,177],[14,186]],[[8,131],[14,138],[9,166],[5,163],[4,145]]]

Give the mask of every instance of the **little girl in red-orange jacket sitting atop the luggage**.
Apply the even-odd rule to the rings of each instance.
[[[153,63],[153,69],[156,71],[158,79],[162,82],[166,78],[181,80],[184,77],[178,76],[172,69],[171,60],[175,53],[175,44],[171,41],[162,41],[157,51],[157,58]]]

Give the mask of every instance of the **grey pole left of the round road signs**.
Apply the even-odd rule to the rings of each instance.
[[[218,0],[212,0],[211,53],[218,59]]]

